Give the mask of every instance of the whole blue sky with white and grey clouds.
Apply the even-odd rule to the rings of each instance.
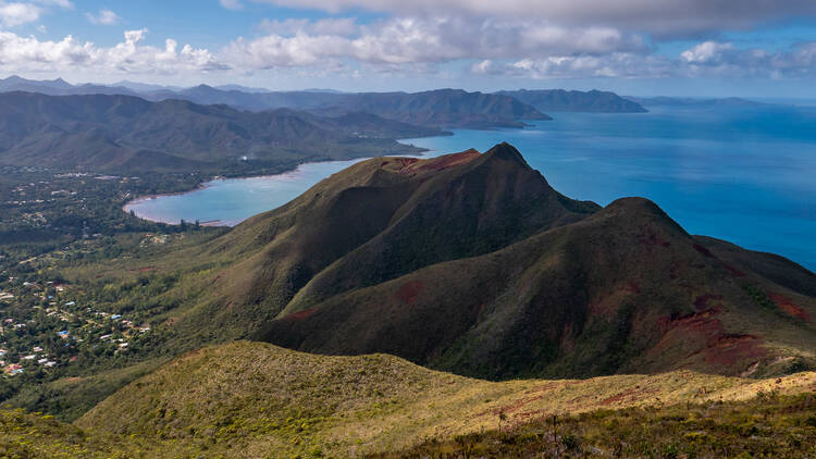
[[[0,76],[816,98],[816,0],[0,0]]]

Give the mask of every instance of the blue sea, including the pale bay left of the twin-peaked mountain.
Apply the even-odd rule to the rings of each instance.
[[[648,113],[551,113],[523,129],[404,140],[436,156],[508,141],[562,194],[607,204],[657,202],[692,234],[783,255],[816,270],[816,108],[648,107]],[[237,222],[274,209],[351,162],[214,181],[129,204],[157,221]]]

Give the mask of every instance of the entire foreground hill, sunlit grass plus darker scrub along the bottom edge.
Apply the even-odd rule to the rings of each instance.
[[[492,383],[384,355],[314,356],[237,342],[162,365],[73,426],[50,415],[0,411],[0,445],[10,457],[526,457],[555,450],[559,457],[795,457],[809,451],[816,435],[814,388],[816,373],[764,381],[672,372]]]

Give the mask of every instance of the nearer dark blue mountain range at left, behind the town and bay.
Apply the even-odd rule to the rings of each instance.
[[[275,164],[416,152],[394,138],[444,134],[375,115],[245,112],[131,96],[0,95],[0,164],[113,173],[249,173]]]

